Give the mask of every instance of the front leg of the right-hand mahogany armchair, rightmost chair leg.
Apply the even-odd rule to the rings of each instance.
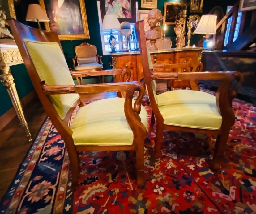
[[[220,169],[220,164],[222,161],[222,158],[224,156],[226,144],[228,141],[228,134],[229,134],[230,128],[225,129],[221,132],[220,135],[217,136],[214,154],[213,154],[213,160],[211,164],[211,168],[213,170]]]

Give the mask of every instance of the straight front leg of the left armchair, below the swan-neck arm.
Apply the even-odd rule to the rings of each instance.
[[[138,147],[136,148],[136,172],[137,172],[137,185],[138,188],[144,187],[144,141],[140,140],[138,142]]]

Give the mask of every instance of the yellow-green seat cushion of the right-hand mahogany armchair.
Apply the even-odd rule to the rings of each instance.
[[[157,95],[164,124],[218,130],[222,117],[216,97],[203,91],[173,90]]]

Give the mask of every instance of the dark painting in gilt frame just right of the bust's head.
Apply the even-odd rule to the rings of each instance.
[[[187,5],[181,3],[164,2],[164,19],[163,25],[175,25],[175,21],[183,15]]]

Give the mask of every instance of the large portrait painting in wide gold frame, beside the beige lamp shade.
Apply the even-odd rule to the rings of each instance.
[[[39,0],[49,22],[45,29],[58,33],[60,40],[89,39],[84,0]]]

